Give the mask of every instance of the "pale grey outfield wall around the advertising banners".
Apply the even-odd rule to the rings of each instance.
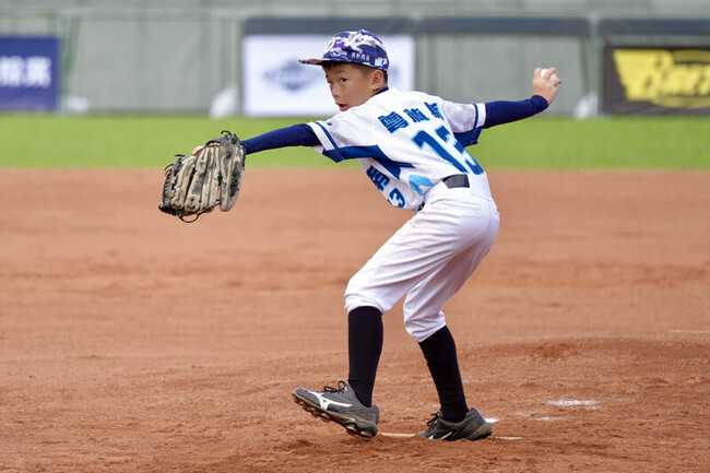
[[[535,66],[556,66],[565,84],[551,113],[594,115],[602,48],[629,37],[623,28],[602,29],[604,22],[695,17],[710,24],[705,0],[115,3],[0,0],[0,35],[61,39],[64,111],[205,113],[221,92],[236,86],[240,96],[245,35],[292,28],[322,34],[324,45],[335,31],[365,26],[414,37],[416,88],[452,100],[514,99],[529,93]],[[702,28],[661,35],[651,29],[630,37],[637,45],[710,45],[710,32]]]

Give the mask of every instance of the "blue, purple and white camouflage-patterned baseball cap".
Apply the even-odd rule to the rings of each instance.
[[[330,39],[320,59],[300,59],[304,64],[322,64],[327,61],[356,62],[387,71],[390,60],[382,42],[366,29],[341,32]]]

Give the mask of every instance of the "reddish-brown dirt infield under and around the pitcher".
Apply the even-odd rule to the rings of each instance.
[[[490,175],[492,253],[445,307],[477,442],[384,317],[371,441],[291,399],[346,376],[350,276],[409,213],[356,170],[247,170],[227,214],[162,173],[0,170],[2,472],[707,472],[710,174]],[[703,466],[705,465],[705,466]]]

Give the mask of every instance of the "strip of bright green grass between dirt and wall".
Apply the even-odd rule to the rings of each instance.
[[[223,129],[246,139],[304,121],[309,119],[0,114],[0,168],[164,167]],[[710,169],[710,117],[540,116],[484,130],[469,151],[489,169]],[[335,164],[292,147],[253,155],[248,166]]]

